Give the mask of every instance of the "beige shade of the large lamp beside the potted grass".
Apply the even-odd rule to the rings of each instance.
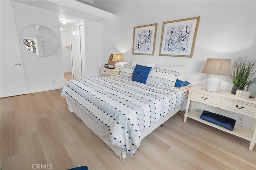
[[[230,59],[207,59],[202,73],[229,76]]]

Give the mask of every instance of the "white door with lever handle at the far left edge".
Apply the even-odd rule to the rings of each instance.
[[[12,3],[1,3],[0,98],[28,94]],[[18,39],[20,38],[20,39]]]

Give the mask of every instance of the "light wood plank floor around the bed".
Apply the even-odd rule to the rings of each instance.
[[[74,114],[61,89],[0,99],[3,170],[255,170],[249,141],[192,119],[171,117],[144,138],[135,155],[119,158]],[[39,168],[37,167],[39,165]]]

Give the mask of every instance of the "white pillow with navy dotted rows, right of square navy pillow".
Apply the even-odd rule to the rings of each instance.
[[[178,75],[180,74],[173,70],[151,68],[148,74],[147,82],[168,87],[174,87]]]

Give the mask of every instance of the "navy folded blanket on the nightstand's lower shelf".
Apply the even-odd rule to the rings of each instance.
[[[236,123],[236,120],[231,119],[230,117],[218,115],[216,113],[212,113],[210,111],[205,111],[205,110],[203,111],[200,118],[208,122],[214,123],[216,125],[219,125],[221,127],[224,127],[230,131],[234,130],[234,126]]]

